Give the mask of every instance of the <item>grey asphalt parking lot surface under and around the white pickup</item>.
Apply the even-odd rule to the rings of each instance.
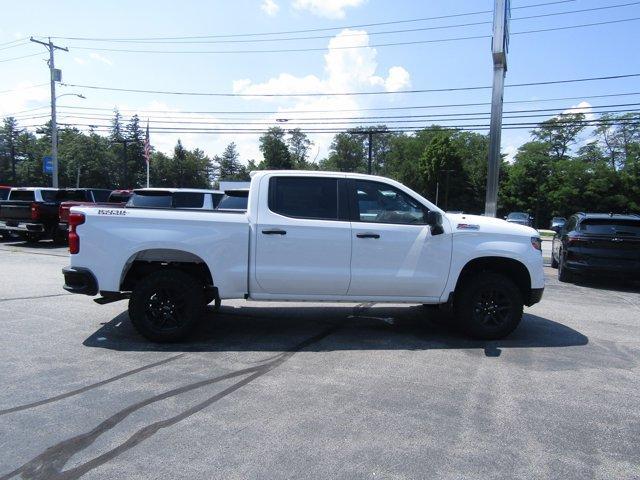
[[[422,306],[227,301],[155,345],[0,243],[0,479],[640,478],[640,287],[560,284],[495,342]]]

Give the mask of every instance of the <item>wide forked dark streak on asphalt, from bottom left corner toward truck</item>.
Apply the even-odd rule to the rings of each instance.
[[[248,383],[253,382],[259,377],[266,375],[271,370],[279,367],[284,362],[289,360],[293,355],[295,355],[300,350],[317,343],[327,336],[334,333],[336,330],[340,328],[339,325],[331,325],[329,328],[325,329],[323,332],[310,337],[293,348],[282,352],[278,355],[277,358],[271,360],[269,362],[262,363],[261,365],[257,365],[255,367],[244,368],[241,370],[237,370],[235,372],[227,373],[224,375],[219,375],[217,377],[209,378],[206,380],[201,380],[199,382],[195,382],[192,384],[188,384],[182,387],[174,388],[172,390],[168,390],[164,393],[154,395],[145,400],[141,400],[133,405],[130,405],[119,412],[116,412],[99,425],[97,425],[92,430],[82,433],[80,435],[76,435],[75,437],[69,438],[67,440],[63,440],[51,447],[47,448],[44,452],[34,457],[32,460],[28,461],[21,467],[9,472],[0,477],[0,480],[8,480],[16,475],[21,475],[22,478],[30,479],[30,480],[72,480],[80,478],[85,473],[93,470],[109,460],[117,457],[118,455],[130,450],[135,447],[139,443],[153,436],[162,428],[167,428],[176,423],[190,417],[191,415],[203,410],[209,405],[223,399],[227,395],[235,392],[236,390],[242,388]],[[127,440],[119,444],[118,446],[112,448],[111,450],[99,455],[85,463],[78,465],[77,467],[71,468],[69,470],[62,470],[64,466],[69,462],[69,460],[77,453],[88,448],[98,437],[103,435],[104,433],[112,430],[116,427],[120,422],[126,419],[129,415],[137,410],[140,410],[143,407],[151,405],[156,402],[160,402],[167,398],[175,397],[182,393],[190,392],[208,385],[213,385],[215,383],[221,382],[223,380],[228,380],[231,378],[236,378],[239,376],[248,375],[247,377],[239,380],[233,385],[225,388],[224,390],[216,393],[215,395],[207,398],[206,400],[184,410],[183,412],[175,415],[173,417],[160,420],[154,423],[151,423],[138,431],[136,431],[133,435],[131,435]]]

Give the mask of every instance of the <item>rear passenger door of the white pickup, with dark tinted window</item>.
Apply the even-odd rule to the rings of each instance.
[[[347,293],[351,223],[343,183],[326,176],[263,178],[254,237],[255,280],[263,293]]]

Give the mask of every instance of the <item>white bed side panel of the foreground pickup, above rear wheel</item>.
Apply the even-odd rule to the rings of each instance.
[[[80,252],[71,255],[71,265],[91,270],[101,291],[119,291],[131,262],[149,250],[199,257],[209,267],[221,298],[241,298],[247,291],[249,223],[243,213],[88,207],[71,211],[86,217],[77,227]]]

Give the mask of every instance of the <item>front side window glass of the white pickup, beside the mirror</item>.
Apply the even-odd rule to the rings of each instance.
[[[358,180],[356,208],[361,222],[424,225],[426,209],[404,192],[384,183]]]

